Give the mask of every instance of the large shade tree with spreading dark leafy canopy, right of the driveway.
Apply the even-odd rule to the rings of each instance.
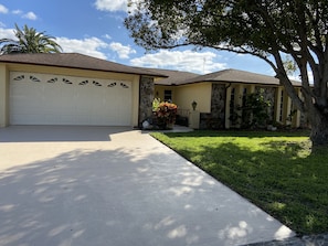
[[[268,63],[294,105],[308,115],[314,147],[328,146],[327,0],[139,0],[125,25],[147,50],[184,45],[255,55]],[[290,56],[299,96],[287,76]],[[311,82],[314,84],[311,84]]]

